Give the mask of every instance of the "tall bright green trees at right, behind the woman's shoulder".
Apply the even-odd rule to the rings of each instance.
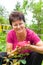
[[[36,33],[43,34],[43,1],[39,0],[39,2],[36,3],[32,0],[29,7],[33,13],[31,28],[34,28]],[[43,39],[42,36],[39,35],[39,37]]]

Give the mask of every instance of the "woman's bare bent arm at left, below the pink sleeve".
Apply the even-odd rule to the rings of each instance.
[[[12,48],[13,48],[13,45],[11,43],[7,43],[6,51],[7,51],[7,54],[9,55],[9,57],[11,57],[15,54],[18,54],[18,49],[15,48],[14,50],[12,50]]]

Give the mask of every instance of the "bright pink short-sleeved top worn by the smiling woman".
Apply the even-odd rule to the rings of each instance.
[[[26,36],[25,41],[30,41],[30,43],[33,45],[35,45],[37,42],[40,41],[40,38],[38,37],[38,35],[35,32],[33,32],[32,30],[27,29],[27,28],[26,28],[26,31],[27,31],[27,36]],[[16,33],[14,30],[10,30],[8,32],[6,41],[8,43],[13,44],[13,49],[16,48],[16,45],[18,44],[18,40],[17,40]],[[31,51],[30,50],[24,50],[23,53],[25,53],[25,52],[31,52]]]

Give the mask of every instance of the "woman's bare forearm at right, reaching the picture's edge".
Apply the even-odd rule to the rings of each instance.
[[[39,41],[36,45],[28,44],[27,49],[43,54],[43,42]]]

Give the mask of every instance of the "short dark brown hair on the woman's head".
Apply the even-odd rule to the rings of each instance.
[[[18,11],[12,12],[9,15],[9,23],[10,23],[10,25],[12,25],[12,22],[16,21],[16,20],[23,20],[25,22],[24,14],[21,13],[21,12],[18,12]]]

